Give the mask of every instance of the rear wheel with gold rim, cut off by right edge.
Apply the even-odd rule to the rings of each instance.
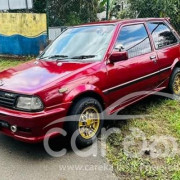
[[[180,68],[175,68],[169,82],[168,90],[171,94],[180,96]]]

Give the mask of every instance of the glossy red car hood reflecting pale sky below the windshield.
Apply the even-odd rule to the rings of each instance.
[[[31,61],[0,73],[0,89],[29,93],[81,70],[89,63]]]

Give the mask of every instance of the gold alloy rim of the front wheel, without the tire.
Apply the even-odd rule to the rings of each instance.
[[[79,118],[79,133],[84,139],[95,136],[100,126],[100,115],[95,107],[87,107]]]

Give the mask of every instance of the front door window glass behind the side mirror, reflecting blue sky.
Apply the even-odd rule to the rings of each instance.
[[[124,26],[120,31],[115,50],[127,51],[129,58],[151,52],[152,48],[144,24]]]

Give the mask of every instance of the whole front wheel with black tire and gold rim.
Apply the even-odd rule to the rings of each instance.
[[[66,127],[71,142],[74,141],[77,147],[87,147],[97,139],[103,124],[102,105],[94,98],[85,97],[74,103],[70,109]],[[76,137],[75,140],[73,136]]]

